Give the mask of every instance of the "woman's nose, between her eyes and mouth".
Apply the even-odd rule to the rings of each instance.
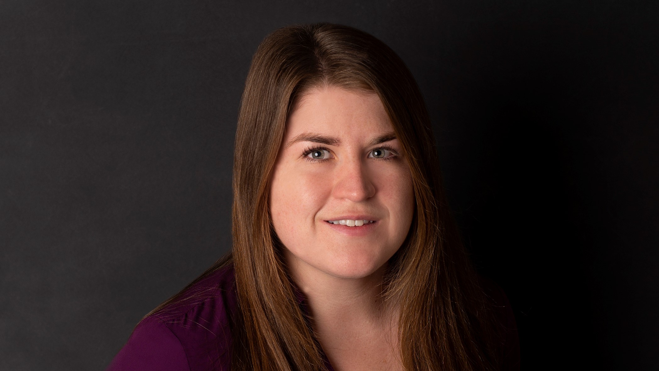
[[[360,159],[351,159],[335,169],[333,196],[353,202],[368,200],[375,194],[375,185]]]

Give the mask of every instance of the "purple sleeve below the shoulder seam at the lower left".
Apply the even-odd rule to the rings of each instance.
[[[148,317],[132,331],[106,371],[190,371],[179,338],[155,317]]]

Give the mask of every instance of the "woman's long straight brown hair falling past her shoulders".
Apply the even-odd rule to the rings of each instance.
[[[281,255],[268,196],[293,101],[328,85],[378,94],[409,163],[415,215],[384,282],[385,300],[401,308],[403,366],[496,368],[495,324],[449,214],[430,118],[415,79],[380,40],[323,23],[268,35],[245,83],[235,139],[233,251],[202,275],[233,262],[239,313],[232,326],[232,370],[325,369]]]

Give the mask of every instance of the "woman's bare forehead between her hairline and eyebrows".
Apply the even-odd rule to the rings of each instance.
[[[370,138],[391,131],[393,126],[377,94],[326,86],[309,90],[295,100],[285,139],[302,132]]]

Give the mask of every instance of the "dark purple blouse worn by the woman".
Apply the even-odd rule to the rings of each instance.
[[[505,334],[501,370],[519,370],[515,318],[503,291],[491,296],[501,308]],[[304,296],[299,293],[304,310]],[[229,318],[237,310],[233,266],[215,271],[186,290],[183,297],[157,314],[144,318],[106,371],[218,371],[229,370]],[[329,360],[326,366],[333,371]]]

